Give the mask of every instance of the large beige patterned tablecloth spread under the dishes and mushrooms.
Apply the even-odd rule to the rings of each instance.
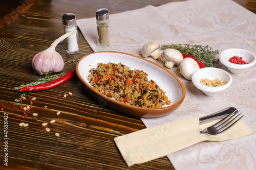
[[[96,18],[77,20],[94,52],[119,51],[140,56],[144,43],[158,41],[161,44],[209,45],[220,52],[227,48],[243,48],[256,54],[256,15],[230,0],[173,2],[118,14],[111,14],[112,9],[109,10],[111,45],[108,48],[97,46]],[[147,59],[163,66],[158,60]],[[221,63],[218,67],[228,71]],[[199,142],[167,155],[175,169],[256,169],[256,65],[241,75],[228,71],[232,84],[214,98],[184,79],[179,67],[170,71],[184,84],[185,100],[169,115],[141,118],[147,128],[233,106],[245,114],[243,122],[253,131],[234,140]]]

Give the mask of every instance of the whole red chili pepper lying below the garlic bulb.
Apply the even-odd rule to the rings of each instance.
[[[61,76],[60,78],[53,80],[51,82],[48,83],[44,83],[44,84],[39,84],[36,86],[27,86],[27,87],[23,87],[22,89],[18,90],[18,91],[39,91],[39,90],[47,90],[53,87],[56,87],[60,84],[63,84],[67,81],[69,81],[73,76],[75,75],[75,68],[72,69],[71,71],[69,71],[66,75]]]

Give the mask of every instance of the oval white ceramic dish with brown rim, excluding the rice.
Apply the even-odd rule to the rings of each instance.
[[[161,108],[143,108],[123,104],[119,101],[95,90],[89,83],[89,70],[97,68],[97,63],[122,63],[130,69],[140,69],[147,73],[148,80],[154,80],[160,88],[165,91],[170,105],[164,105]],[[78,78],[85,85],[86,90],[99,101],[100,105],[108,105],[111,108],[130,115],[139,117],[160,117],[176,110],[185,98],[185,87],[181,81],[166,68],[146,59],[131,54],[120,52],[97,52],[82,57],[76,65]]]

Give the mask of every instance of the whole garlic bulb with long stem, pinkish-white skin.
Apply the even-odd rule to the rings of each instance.
[[[59,72],[64,67],[64,61],[61,55],[55,51],[55,47],[65,38],[76,34],[77,30],[73,30],[56,39],[49,48],[40,53],[37,53],[32,59],[32,68],[39,75],[47,75],[50,72]]]

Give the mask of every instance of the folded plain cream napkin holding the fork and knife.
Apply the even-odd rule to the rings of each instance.
[[[201,141],[224,141],[252,133],[241,120],[221,135],[199,133],[216,122],[218,120],[199,126],[199,116],[193,116],[119,136],[114,141],[126,164],[132,166],[180,151]]]

